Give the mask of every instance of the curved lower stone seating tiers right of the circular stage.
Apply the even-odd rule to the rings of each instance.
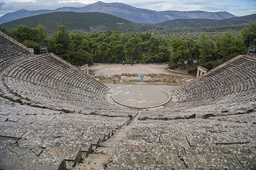
[[[183,118],[196,114],[236,112],[255,105],[256,59],[238,56],[207,74],[176,88],[176,103],[158,112],[143,111],[141,118]],[[159,117],[160,116],[160,117]]]

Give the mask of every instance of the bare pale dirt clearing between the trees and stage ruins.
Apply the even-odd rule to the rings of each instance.
[[[167,70],[167,65],[162,64],[135,64],[131,65],[122,65],[117,63],[112,63],[111,65],[105,63],[94,63],[93,66],[89,66],[89,73],[96,75],[116,75],[122,73],[129,74],[166,74],[166,75],[176,75],[184,76],[187,78],[195,78],[195,76],[189,74],[176,73],[174,71]]]

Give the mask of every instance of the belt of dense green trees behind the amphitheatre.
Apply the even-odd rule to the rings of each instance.
[[[93,62],[103,63],[156,63],[168,62],[170,68],[185,61],[212,69],[229,59],[246,54],[250,45],[256,44],[256,24],[242,28],[238,33],[230,31],[208,32],[199,37],[180,39],[175,33],[172,37],[153,36],[151,32],[123,33],[121,31],[77,32],[69,33],[64,25],[58,25],[57,31],[49,36],[46,27],[39,24],[36,28],[19,25],[10,31],[0,27],[0,31],[15,40],[34,48],[40,53],[40,45],[46,44],[48,52],[57,54],[76,66]],[[163,34],[164,35],[164,34]],[[185,67],[184,67],[185,69]],[[192,71],[192,70],[189,70]]]

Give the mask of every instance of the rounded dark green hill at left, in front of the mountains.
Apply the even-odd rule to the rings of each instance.
[[[71,32],[99,32],[99,31],[146,31],[148,25],[133,23],[113,15],[99,12],[51,12],[30,16],[3,23],[7,29],[17,28],[18,25],[26,25],[34,28],[39,23],[46,27],[46,32],[51,35],[57,31],[57,25],[64,25]]]

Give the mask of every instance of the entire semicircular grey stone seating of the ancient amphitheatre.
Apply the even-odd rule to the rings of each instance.
[[[256,167],[255,57],[164,88],[175,100],[159,109],[113,105],[108,86],[2,32],[0,57],[0,169]]]

